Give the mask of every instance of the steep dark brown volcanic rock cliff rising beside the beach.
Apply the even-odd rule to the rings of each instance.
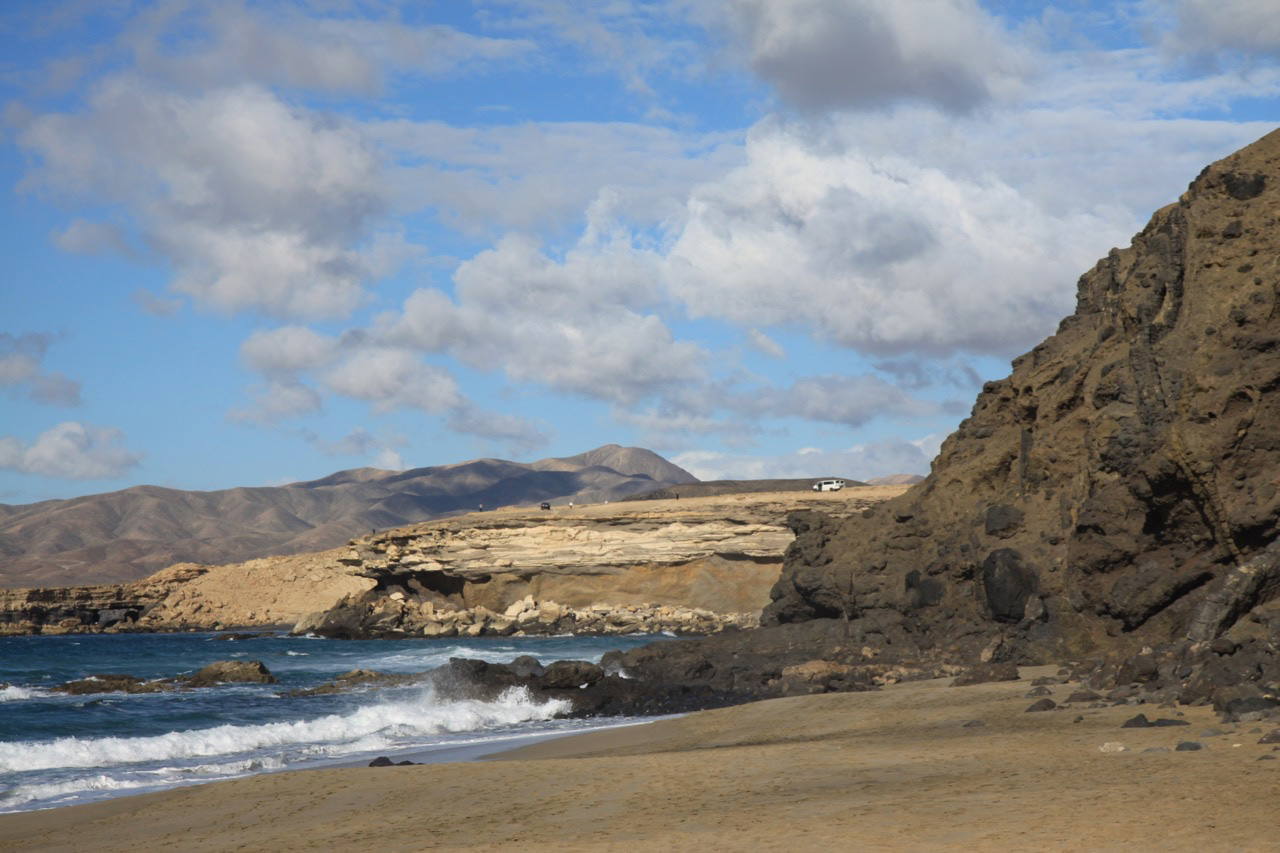
[[[845,617],[872,648],[957,660],[1212,639],[1251,611],[1265,635],[1277,218],[1280,132],[1087,273],[1075,314],[983,388],[922,485],[845,521],[796,514],[765,621]]]

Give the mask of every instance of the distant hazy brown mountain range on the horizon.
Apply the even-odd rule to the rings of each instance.
[[[0,588],[123,583],[175,562],[220,565],[323,551],[383,529],[541,501],[614,501],[696,483],[639,447],[567,459],[385,471],[361,467],[280,487],[184,492],[138,485],[23,506],[0,503]]]

